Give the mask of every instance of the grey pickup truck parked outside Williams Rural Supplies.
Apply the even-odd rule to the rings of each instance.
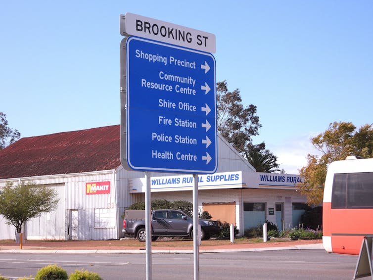
[[[219,221],[199,219],[201,239],[218,236],[222,230]],[[126,210],[123,221],[123,233],[145,241],[145,210]],[[162,209],[151,213],[151,240],[158,236],[193,236],[193,219],[179,210]]]

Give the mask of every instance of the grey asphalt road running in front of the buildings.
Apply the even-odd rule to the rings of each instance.
[[[351,280],[356,262],[357,256],[325,250],[204,253],[199,256],[199,279]],[[0,274],[10,279],[35,276],[48,264],[68,274],[76,269],[96,272],[104,280],[144,280],[146,275],[145,254],[0,253]],[[193,254],[152,254],[152,279],[193,280]]]

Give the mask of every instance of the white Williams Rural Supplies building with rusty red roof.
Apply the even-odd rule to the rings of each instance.
[[[151,176],[152,199],[192,201],[190,175]],[[32,181],[59,195],[55,211],[26,223],[26,239],[122,237],[123,210],[144,200],[143,177],[120,164],[119,125],[22,138],[0,151],[0,188]],[[298,175],[256,173],[219,136],[218,170],[199,176],[198,204],[213,219],[235,224],[240,235],[265,220],[291,228],[306,202],[295,187],[299,180]],[[0,239],[14,236],[15,228],[0,215]]]

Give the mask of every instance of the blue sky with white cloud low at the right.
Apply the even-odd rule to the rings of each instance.
[[[217,81],[297,173],[333,121],[373,123],[373,1],[2,1],[0,111],[22,137],[120,123],[119,15],[216,35]]]

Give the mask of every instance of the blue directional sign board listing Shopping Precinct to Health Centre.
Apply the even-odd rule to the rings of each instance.
[[[211,53],[131,36],[126,42],[127,164],[135,170],[217,170]]]

